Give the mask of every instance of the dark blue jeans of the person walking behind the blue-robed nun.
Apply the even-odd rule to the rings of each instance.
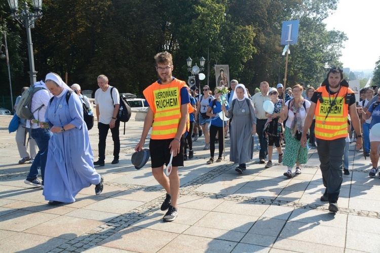
[[[45,178],[45,166],[46,159],[48,158],[48,147],[49,140],[52,137],[52,132],[47,129],[37,128],[31,130],[31,137],[34,139],[35,143],[39,147],[39,152],[34,158],[33,164],[30,166],[29,174],[27,179],[35,179],[39,174],[38,168],[41,168],[42,182],[44,183]]]

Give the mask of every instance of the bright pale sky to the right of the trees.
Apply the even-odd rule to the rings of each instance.
[[[374,69],[380,57],[380,0],[340,0],[325,23],[328,30],[344,31],[348,40],[340,61],[351,70]]]

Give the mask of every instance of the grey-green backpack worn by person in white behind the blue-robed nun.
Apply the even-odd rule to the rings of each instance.
[[[44,81],[40,81],[40,82],[44,82]],[[31,85],[26,91],[24,91],[16,109],[17,116],[19,116],[20,118],[26,118],[26,119],[34,118],[33,113],[41,110],[41,108],[44,107],[44,105],[41,105],[35,111],[31,112],[30,111],[31,100],[33,98],[34,93],[36,93],[37,91],[41,91],[42,89],[46,90],[43,87],[34,87],[34,83],[33,83],[33,85]]]

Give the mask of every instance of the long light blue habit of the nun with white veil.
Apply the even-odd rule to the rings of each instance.
[[[55,133],[50,138],[43,194],[46,200],[72,203],[83,188],[99,184],[100,175],[93,165],[94,155],[83,120],[82,101],[72,93],[67,104],[67,90],[63,93],[49,103],[45,118],[50,126],[71,123],[75,128]]]

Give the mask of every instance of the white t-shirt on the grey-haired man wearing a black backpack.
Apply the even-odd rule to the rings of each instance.
[[[113,109],[115,109],[115,105],[120,105],[118,89],[112,89],[112,97],[110,92],[111,89],[112,86],[109,86],[105,92],[103,92],[103,90],[100,88],[97,89],[95,92],[94,103],[96,104],[96,106],[99,106],[100,113],[98,122],[103,124],[109,124],[109,122],[111,122],[111,119],[113,117]]]

